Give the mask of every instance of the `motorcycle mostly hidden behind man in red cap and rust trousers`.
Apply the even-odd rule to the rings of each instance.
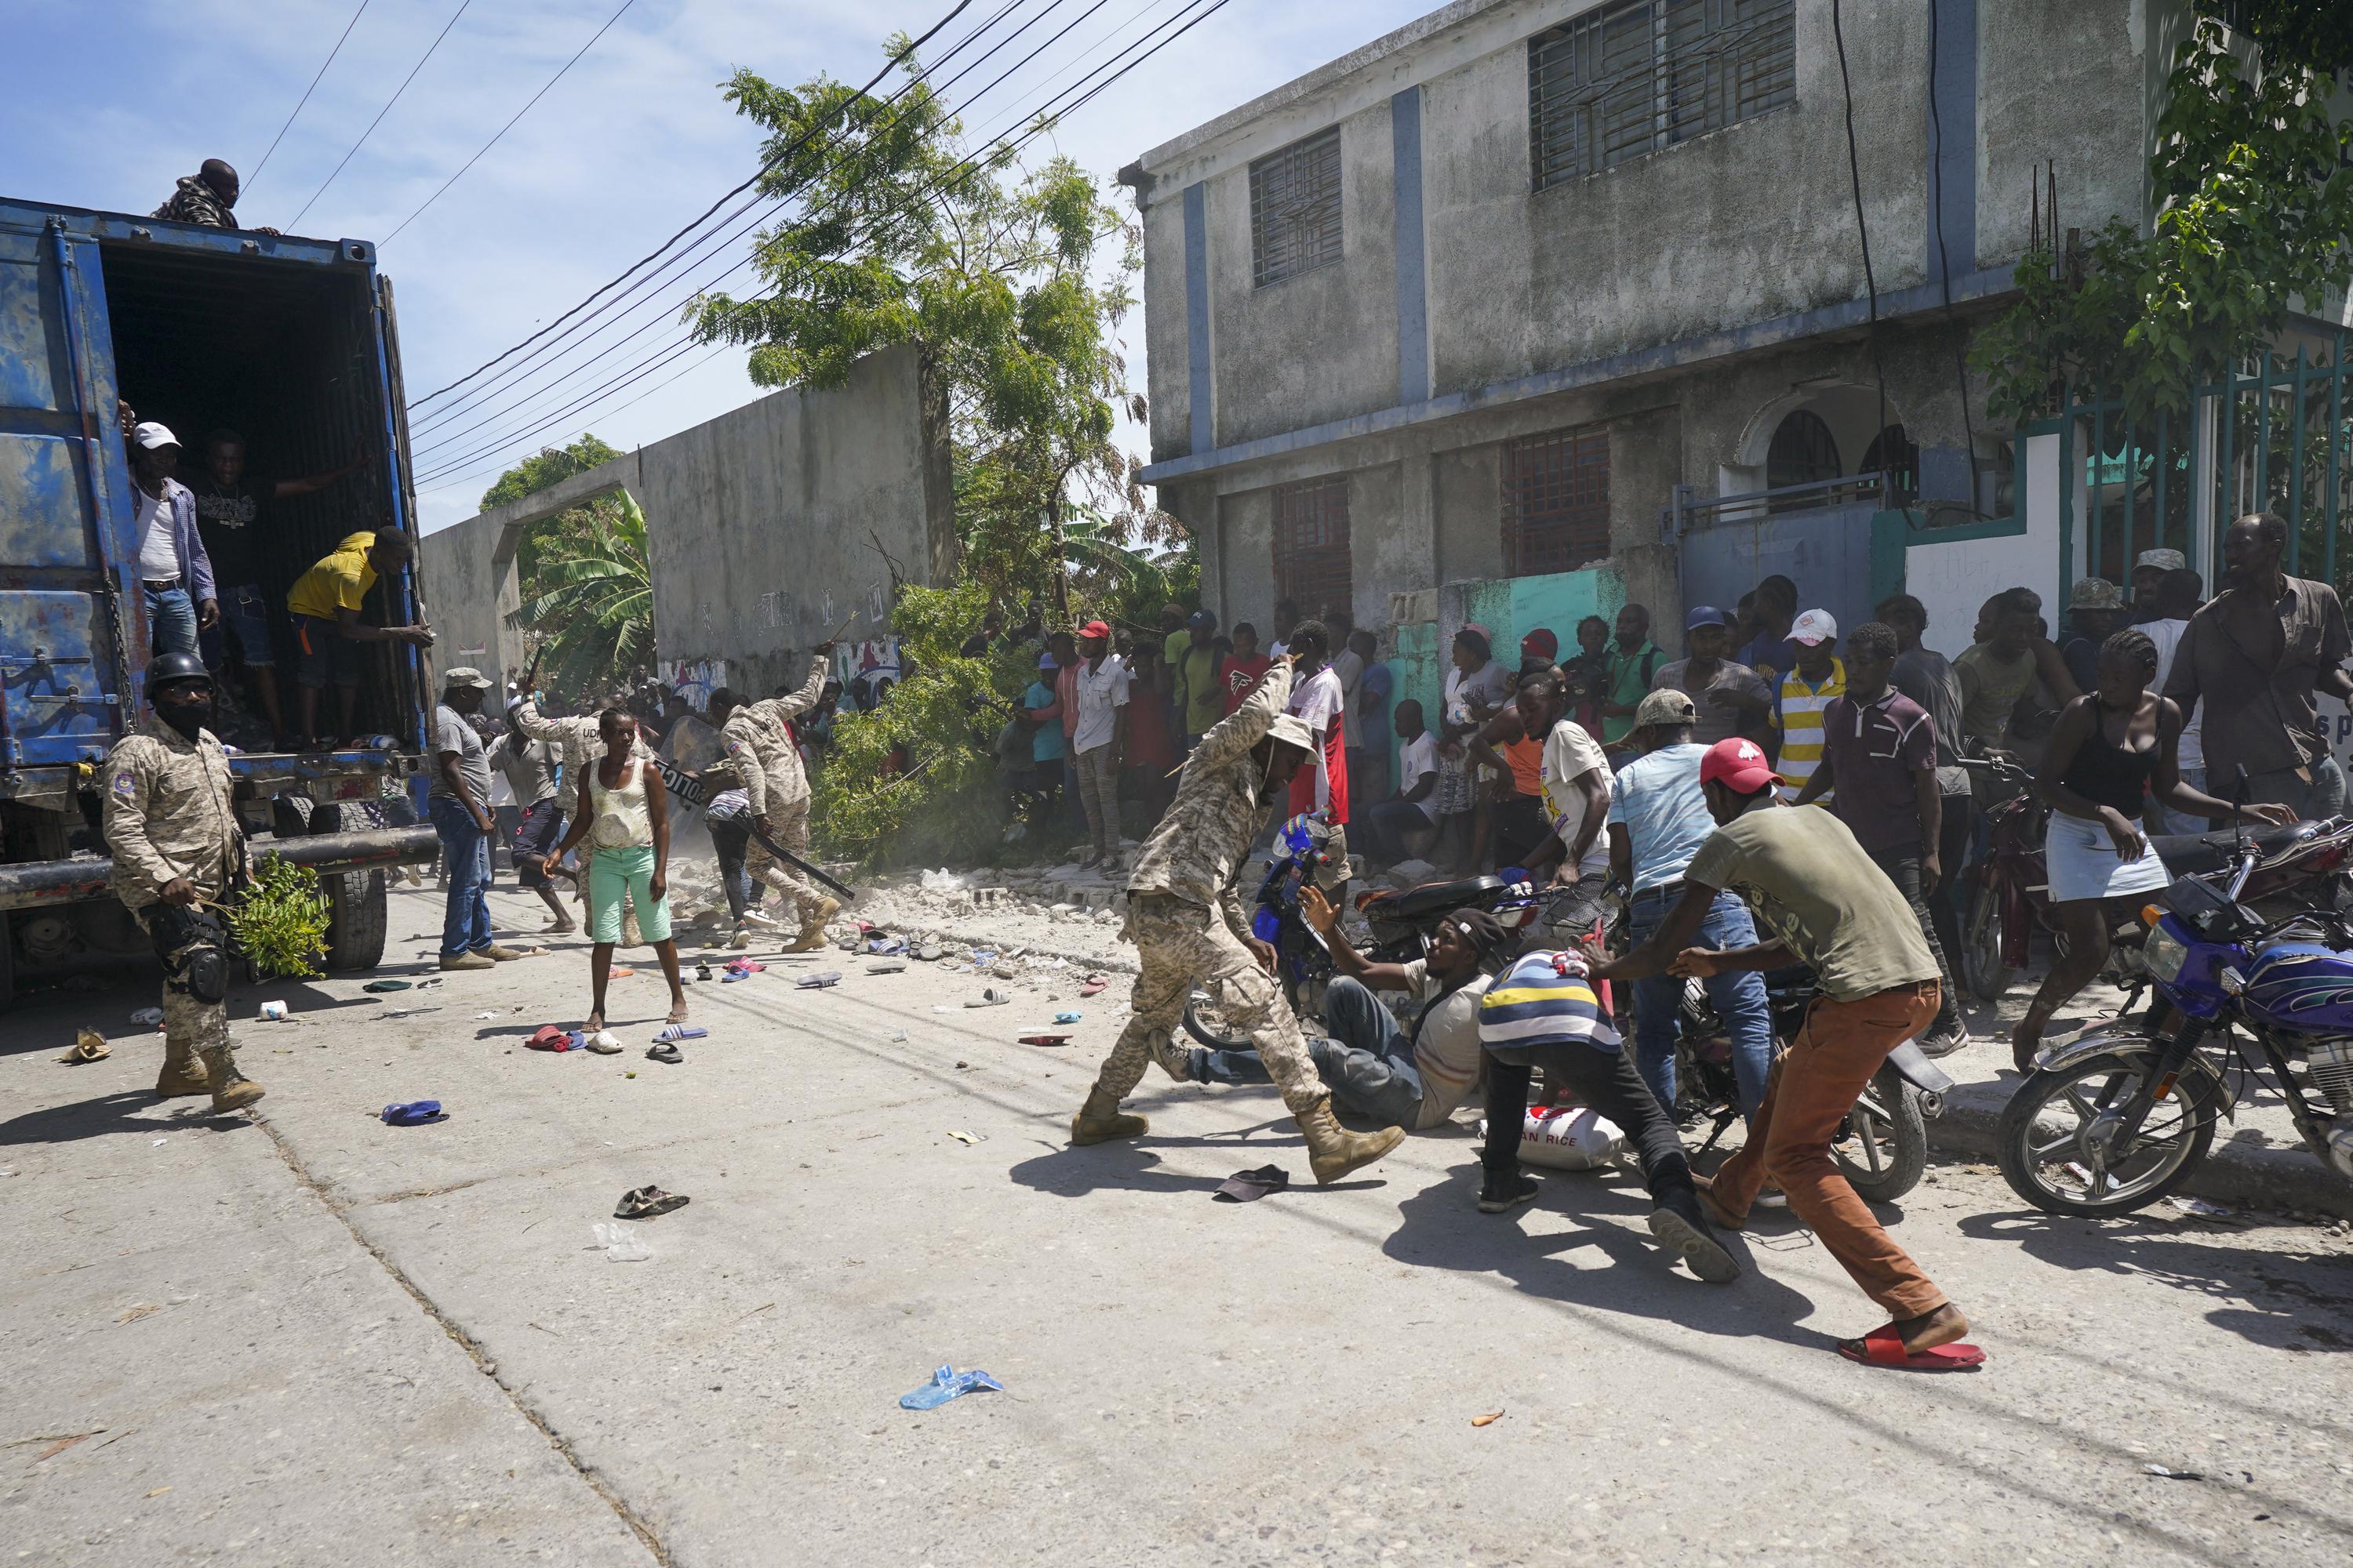
[[[1805,1027],[1814,999],[1814,971],[1802,964],[1765,973],[1774,1041],[1781,1051]],[[1892,1204],[1920,1185],[1927,1168],[1927,1119],[1944,1114],[1953,1079],[1918,1044],[1897,1046],[1831,1138],[1831,1159],[1866,1201]],[[1675,1013],[1678,1126],[1713,1121],[1699,1154],[1715,1147],[1741,1117],[1739,1079],[1732,1072],[1732,1032],[1718,1020],[1701,980],[1685,980]]]

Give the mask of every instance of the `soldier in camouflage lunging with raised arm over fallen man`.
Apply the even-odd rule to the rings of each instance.
[[[1235,879],[1249,842],[1280,799],[1292,773],[1313,757],[1318,736],[1306,719],[1285,715],[1292,665],[1278,658],[1240,708],[1226,715],[1184,766],[1176,799],[1153,827],[1127,882],[1127,933],[1141,954],[1132,1018],[1104,1060],[1087,1105],[1071,1119],[1071,1143],[1136,1138],[1151,1124],[1120,1114],[1146,1060],[1188,1079],[1188,1053],[1172,1044],[1195,985],[1219,997],[1224,1016],[1249,1032],[1268,1077],[1308,1140],[1318,1185],[1388,1154],[1402,1128],[1348,1133],[1332,1114],[1332,1091],[1315,1072],[1299,1018],[1273,976],[1273,950],[1249,933]]]

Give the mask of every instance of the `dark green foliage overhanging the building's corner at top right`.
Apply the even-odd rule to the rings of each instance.
[[[1972,350],[1998,418],[2047,414],[2066,386],[2134,418],[2179,414],[2193,386],[2266,353],[2297,301],[2341,287],[2353,122],[2332,113],[2327,73],[2273,54],[2249,68],[2212,19],[2181,45],[2148,165],[2155,223],[2111,219],[2068,256],[2028,249],[2019,303]]]

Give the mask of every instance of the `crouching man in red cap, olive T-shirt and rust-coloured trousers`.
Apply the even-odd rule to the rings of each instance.
[[[1715,832],[1682,872],[1682,898],[1633,952],[1593,966],[1593,980],[1661,971],[1708,978],[1734,969],[1809,964],[1821,992],[1798,1039],[1772,1067],[1748,1143],[1699,1197],[1718,1225],[1739,1229],[1765,1180],[1779,1182],[1824,1248],[1889,1321],[1838,1354],[1866,1366],[1974,1366],[1969,1333],[1944,1291],[1920,1272],[1831,1161],[1831,1138],[1897,1044],[1937,1018],[1937,959],[1911,905],[1828,811],[1781,806],[1781,776],[1755,741],[1718,741],[1699,759]],[[1769,940],[1715,952],[1685,947],[1715,893],[1755,910]]]

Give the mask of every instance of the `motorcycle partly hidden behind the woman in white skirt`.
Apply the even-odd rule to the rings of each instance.
[[[2049,806],[2033,788],[2033,773],[2002,757],[1962,757],[1962,769],[1984,773],[2019,795],[1986,811],[1988,846],[1969,872],[1974,886],[1962,926],[1962,969],[1979,1001],[2000,1001],[2009,983],[2031,961],[2031,940],[2040,931],[2064,947],[2059,917],[2049,900],[2049,877],[2042,870],[2042,830]],[[2353,860],[2353,820],[2297,823],[2264,827],[2249,839],[2264,851],[2259,875],[2247,889],[2254,905],[2308,903],[2315,884],[2327,884]],[[2219,879],[2231,870],[2238,837],[2233,832],[2158,835],[2148,846],[2165,870],[2181,877]],[[2118,978],[2139,976],[2141,926],[2132,924],[2113,943]]]

